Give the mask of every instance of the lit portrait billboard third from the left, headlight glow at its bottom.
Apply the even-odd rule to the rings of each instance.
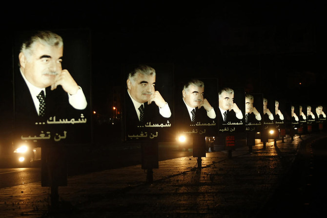
[[[217,134],[217,79],[191,78],[179,81],[175,94],[176,134]]]

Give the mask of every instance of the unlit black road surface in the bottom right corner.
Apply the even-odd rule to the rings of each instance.
[[[288,176],[262,210],[262,217],[326,217],[327,139],[303,144]]]

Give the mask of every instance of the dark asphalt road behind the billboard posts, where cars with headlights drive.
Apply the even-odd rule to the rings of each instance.
[[[162,145],[158,150],[159,161],[192,155],[192,150],[180,150],[176,146]],[[137,165],[142,161],[141,148],[137,146],[119,150],[106,147],[72,149],[67,153],[68,176]],[[36,165],[35,168],[18,168],[18,164],[10,160],[2,163],[0,188],[41,181],[41,163]]]

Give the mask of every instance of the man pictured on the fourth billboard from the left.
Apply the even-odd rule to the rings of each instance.
[[[219,122],[221,124],[242,122],[243,113],[234,103],[234,90],[228,87],[221,89],[218,93]]]

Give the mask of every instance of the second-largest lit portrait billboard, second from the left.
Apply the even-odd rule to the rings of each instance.
[[[173,125],[173,65],[123,67],[123,137],[125,141],[166,141]]]

